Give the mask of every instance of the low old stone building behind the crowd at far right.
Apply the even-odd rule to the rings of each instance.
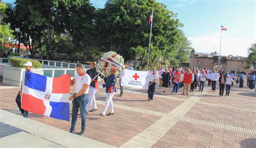
[[[245,57],[233,57],[233,55],[217,55],[196,53],[194,50],[190,54],[190,67],[207,69],[225,69],[226,72],[234,71],[250,73],[250,67],[246,67]]]

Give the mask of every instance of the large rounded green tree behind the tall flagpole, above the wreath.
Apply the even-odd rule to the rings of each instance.
[[[171,50],[176,41],[178,27],[182,26],[176,14],[156,1],[131,0],[108,1],[104,9],[97,10],[97,30],[100,48],[103,51],[117,51],[125,60],[134,58],[131,47],[149,45],[149,15],[154,7],[152,45],[158,50]]]

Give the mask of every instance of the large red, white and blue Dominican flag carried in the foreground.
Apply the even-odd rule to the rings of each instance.
[[[25,72],[22,109],[69,121],[70,75],[47,77]]]

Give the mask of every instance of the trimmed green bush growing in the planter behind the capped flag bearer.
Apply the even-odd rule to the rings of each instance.
[[[11,66],[13,67],[17,67],[17,68],[24,68],[24,64],[26,61],[31,61],[33,64],[33,68],[41,68],[41,62],[37,61],[37,60],[31,60],[31,59],[23,59],[23,58],[16,58],[16,57],[12,57],[10,58],[11,60]]]

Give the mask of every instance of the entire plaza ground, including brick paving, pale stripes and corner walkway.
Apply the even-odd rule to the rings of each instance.
[[[71,93],[74,89],[71,87]],[[92,143],[98,147],[256,147],[256,97],[253,90],[234,84],[230,96],[219,97],[218,91],[213,93],[207,86],[203,93],[196,90],[188,96],[180,94],[182,89],[178,94],[172,94],[171,89],[168,88],[166,93],[157,89],[152,102],[147,101],[146,90],[125,89],[122,97],[118,96],[118,90],[113,97],[114,115],[100,117],[105,89],[99,88],[96,95],[98,110],[86,115],[85,136],[74,136],[83,141],[83,146],[89,147],[93,147]],[[35,139],[34,142],[42,140],[45,145],[41,146],[77,146],[76,141],[67,145],[64,140],[59,140],[73,135],[68,132],[70,122],[32,113],[29,119],[17,115],[15,98],[18,90],[0,82],[0,136],[4,143],[0,147],[15,146],[14,143],[8,145],[8,139],[22,135]],[[70,119],[71,109],[72,104]],[[79,115],[76,134],[81,126]],[[19,123],[14,122],[15,118]],[[41,126],[46,130],[39,130]],[[56,135],[52,131],[56,131]],[[55,135],[56,140],[49,140],[51,135]]]

